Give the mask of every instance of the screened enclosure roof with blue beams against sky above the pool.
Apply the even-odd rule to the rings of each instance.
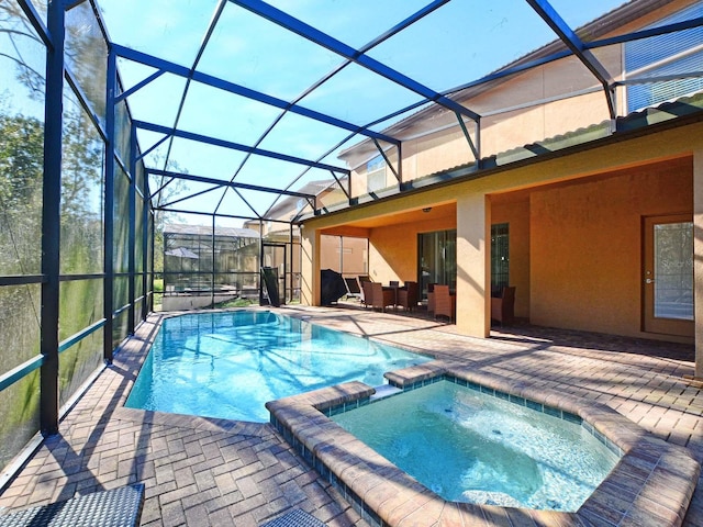
[[[345,190],[349,168],[339,154],[364,139],[378,155],[397,148],[402,138],[386,131],[423,109],[442,106],[478,131],[481,115],[457,102],[460,94],[525,68],[574,55],[610,104],[614,80],[598,48],[647,35],[599,41],[607,24],[589,22],[610,13],[602,21],[622,25],[633,11],[661,2],[98,4],[116,55],[118,100],[127,101],[135,122],[154,206],[245,220],[269,217],[286,197],[304,203],[297,217],[315,212],[314,195],[300,189],[328,181]],[[479,145],[472,148],[479,160]]]

